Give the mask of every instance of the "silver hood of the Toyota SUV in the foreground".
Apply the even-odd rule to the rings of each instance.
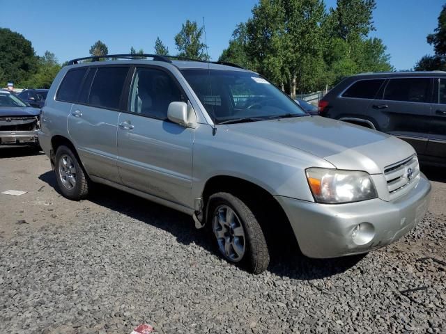
[[[383,173],[384,167],[415,154],[398,138],[319,116],[282,118],[229,125],[241,132],[314,154],[339,169]]]

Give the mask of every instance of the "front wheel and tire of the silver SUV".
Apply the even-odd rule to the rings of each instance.
[[[268,268],[270,253],[265,235],[245,202],[231,193],[213,194],[209,198],[208,222],[218,250],[228,262],[256,274]]]

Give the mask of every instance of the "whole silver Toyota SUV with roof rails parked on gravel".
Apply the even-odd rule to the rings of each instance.
[[[390,244],[424,216],[431,184],[408,143],[309,116],[255,72],[144,57],[81,58],[54,79],[39,141],[66,198],[99,182],[178,209],[254,273],[272,233],[339,257]]]

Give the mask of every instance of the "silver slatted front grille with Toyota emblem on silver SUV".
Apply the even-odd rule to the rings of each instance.
[[[410,173],[411,172],[411,173]],[[385,180],[389,190],[390,200],[399,197],[403,189],[412,188],[420,179],[420,166],[416,155],[408,157],[403,161],[385,167]]]

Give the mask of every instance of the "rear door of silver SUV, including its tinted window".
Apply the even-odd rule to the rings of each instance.
[[[90,175],[121,183],[116,136],[130,66],[90,67],[68,116],[68,131]]]

